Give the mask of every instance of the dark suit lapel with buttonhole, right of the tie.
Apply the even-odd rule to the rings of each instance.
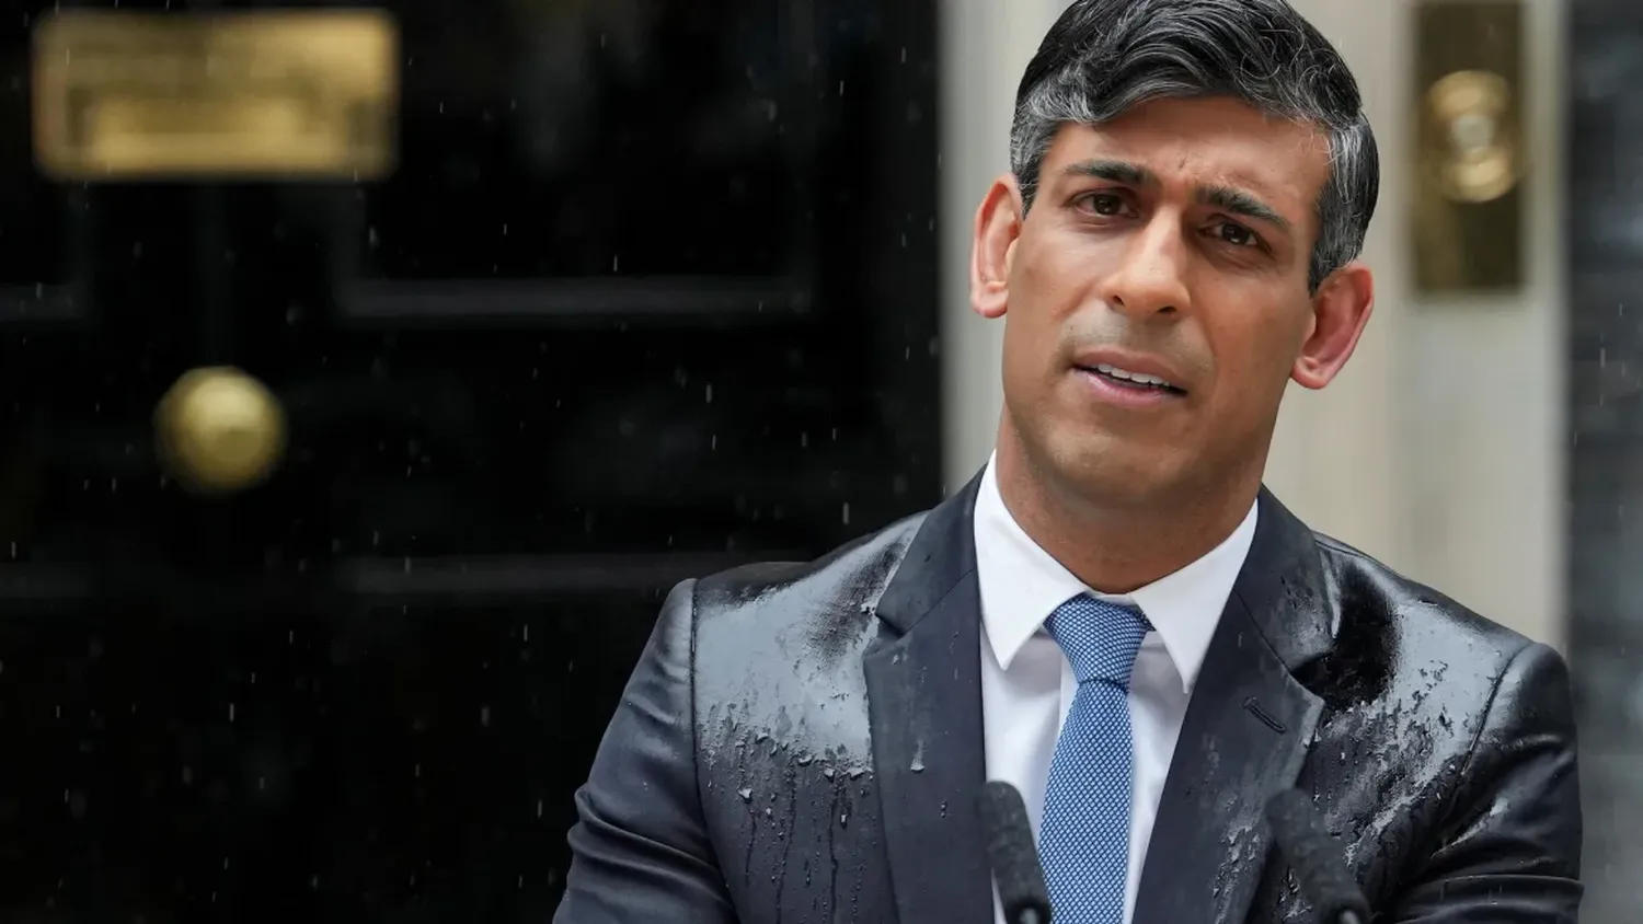
[[[1267,799],[1295,784],[1323,702],[1293,671],[1329,650],[1337,606],[1316,540],[1262,491],[1153,822],[1134,924],[1242,924],[1268,849]]]

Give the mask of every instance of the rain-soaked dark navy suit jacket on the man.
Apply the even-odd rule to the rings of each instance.
[[[667,597],[577,794],[557,924],[991,922],[974,487]],[[1134,924],[1305,919],[1262,822],[1288,786],[1377,922],[1576,921],[1562,660],[1263,492]]]

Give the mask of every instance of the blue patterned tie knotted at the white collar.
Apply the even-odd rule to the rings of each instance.
[[[1129,678],[1152,627],[1139,609],[1091,596],[1058,606],[1043,627],[1078,678],[1038,834],[1050,906],[1055,924],[1122,924],[1135,775]]]

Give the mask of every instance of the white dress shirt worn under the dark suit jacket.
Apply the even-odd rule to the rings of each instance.
[[[1020,789],[1038,835],[1043,789],[1061,720],[1078,679],[1043,620],[1068,599],[1093,594],[1134,604],[1152,622],[1130,675],[1135,789],[1124,921],[1135,914],[1152,824],[1170,773],[1175,739],[1232,583],[1255,538],[1255,507],[1221,545],[1186,568],[1127,596],[1094,594],[1020,528],[987,463],[976,494],[976,578],[981,586],[981,712],[987,778]],[[997,904],[997,899],[994,899]],[[1004,924],[1004,911],[994,911]]]

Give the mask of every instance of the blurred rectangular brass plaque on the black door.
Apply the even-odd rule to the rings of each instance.
[[[380,179],[399,36],[381,10],[81,10],[33,34],[35,156],[64,181]]]

